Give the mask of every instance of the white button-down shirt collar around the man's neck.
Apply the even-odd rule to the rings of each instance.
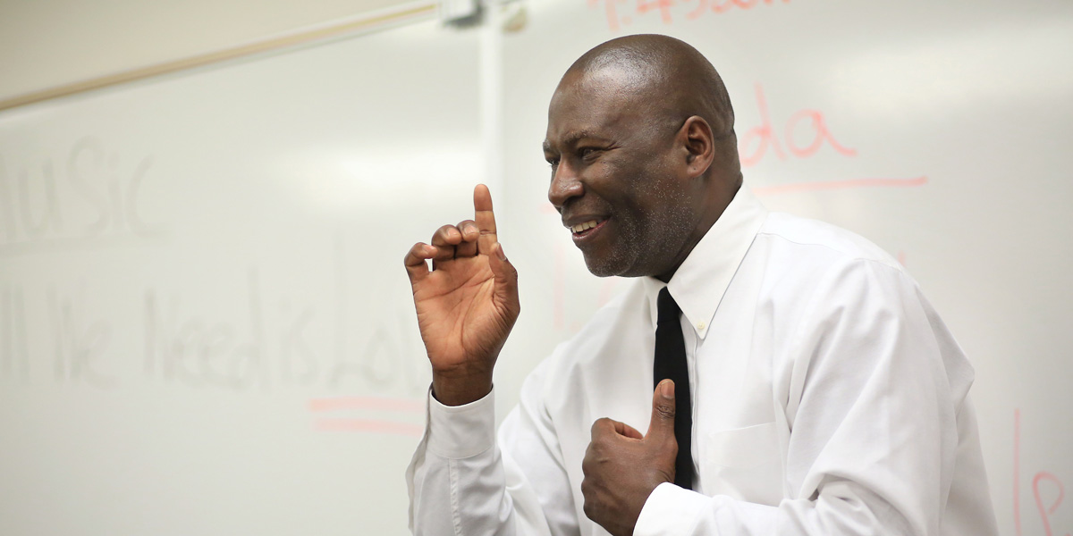
[[[745,185],[739,188],[670,283],[664,285],[656,278],[644,278],[652,325],[657,318],[656,297],[666,286],[696,336],[704,339],[726,287],[766,218],[767,209],[752,192]]]

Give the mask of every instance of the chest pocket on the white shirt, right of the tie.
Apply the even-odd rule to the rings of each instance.
[[[778,505],[782,501],[782,452],[775,422],[708,434],[701,476],[704,493]]]

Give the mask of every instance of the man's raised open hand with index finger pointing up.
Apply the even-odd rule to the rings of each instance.
[[[415,243],[405,260],[432,364],[432,391],[446,405],[466,404],[491,390],[496,358],[521,309],[518,274],[496,237],[491,194],[484,184],[473,190],[473,220],[437,229],[431,244]]]

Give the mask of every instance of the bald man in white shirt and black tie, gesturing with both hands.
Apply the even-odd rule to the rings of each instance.
[[[590,50],[544,152],[589,270],[638,282],[530,374],[497,437],[519,304],[487,189],[410,250],[432,366],[416,534],[997,534],[960,348],[888,255],[740,188],[700,53]]]

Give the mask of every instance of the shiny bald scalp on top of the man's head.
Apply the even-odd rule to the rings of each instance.
[[[719,73],[704,55],[674,38],[627,35],[603,43],[570,66],[560,88],[564,84],[629,95],[653,119],[675,128],[700,116],[717,138],[734,137],[734,108]]]

